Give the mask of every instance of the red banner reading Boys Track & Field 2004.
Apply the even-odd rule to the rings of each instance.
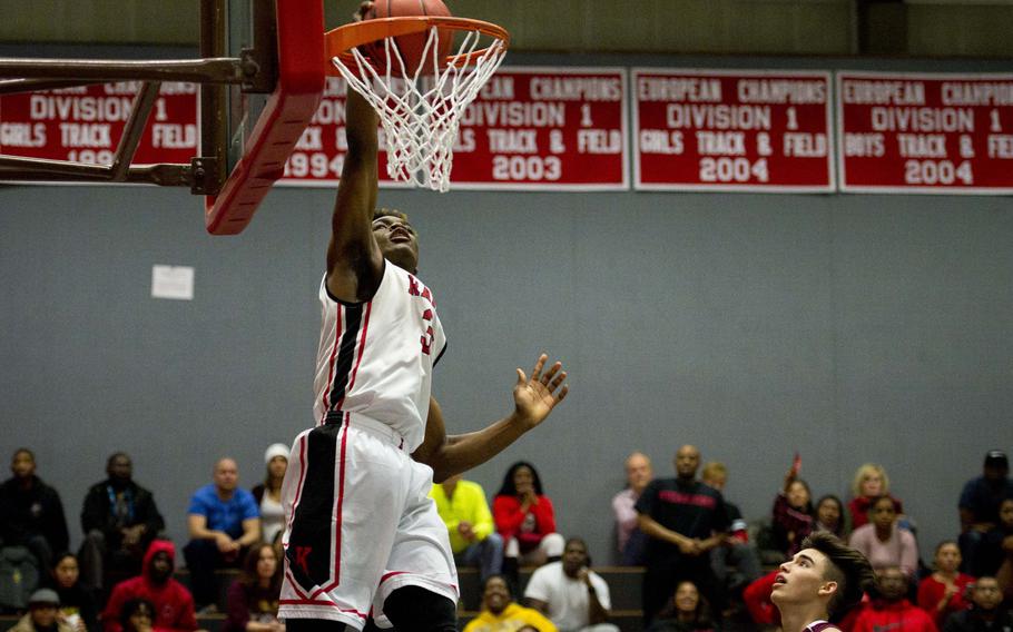
[[[840,190],[1013,192],[1013,75],[837,73]]]

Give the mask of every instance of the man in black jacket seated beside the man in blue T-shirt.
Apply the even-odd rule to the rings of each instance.
[[[148,545],[165,529],[151,492],[134,482],[130,456],[117,452],[106,461],[106,480],[92,485],[81,510],[81,583],[106,587],[106,574],[140,572]]]

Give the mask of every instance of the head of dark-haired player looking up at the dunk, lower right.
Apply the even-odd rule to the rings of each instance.
[[[770,600],[785,632],[840,632],[839,621],[875,583],[865,556],[828,533],[814,533],[780,565]]]

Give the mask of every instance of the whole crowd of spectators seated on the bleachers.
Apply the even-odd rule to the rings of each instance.
[[[75,555],[59,493],[37,475],[32,452],[18,450],[12,477],[0,484],[0,608],[23,613],[12,628],[20,632],[194,631],[197,616],[219,602],[216,570],[233,567],[238,579],[224,600],[223,632],[284,632],[277,609],[287,458],[286,446],[269,446],[263,482],[250,491],[239,485],[234,460],[215,463],[212,482],[194,492],[187,511],[187,589],[174,577],[176,547],[154,495],[132,480],[129,455],[110,455],[106,478],[88,490]],[[846,632],[1013,632],[1013,481],[1005,453],[989,452],[982,475],[964,486],[961,533],[938,543],[931,567],[882,465],[858,467],[845,504],[833,494],[814,503],[798,463],[769,516],[747,525],[724,496],[728,467],[702,464],[695,446],[677,451],[673,477],[655,477],[640,452],[627,458],[627,486],[611,502],[612,554],[643,566],[645,630],[734,630],[736,616],[754,629],[776,626],[771,566],[797,553],[807,535],[829,532],[860,551],[878,576],[875,592],[840,622]],[[608,583],[591,570],[587,543],[558,532],[533,464],[508,468],[491,508],[485,491],[460,475],[433,485],[431,497],[456,563],[475,566],[482,581],[481,610],[468,631],[618,630],[609,621]],[[523,605],[514,601],[521,566],[537,567]]]

